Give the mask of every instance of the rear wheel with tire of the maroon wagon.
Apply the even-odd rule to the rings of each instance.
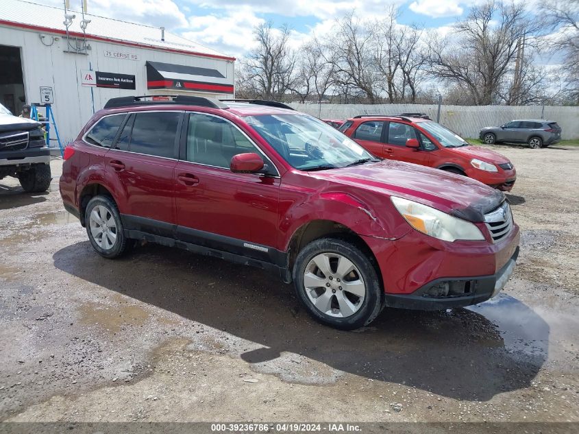
[[[119,208],[109,196],[98,195],[88,202],[84,222],[90,244],[104,258],[118,258],[134,244],[125,237]]]

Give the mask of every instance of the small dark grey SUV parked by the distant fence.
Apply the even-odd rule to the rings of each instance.
[[[547,147],[561,139],[561,128],[553,121],[525,119],[510,121],[500,127],[486,127],[478,134],[488,145],[493,143],[528,143],[533,149]]]

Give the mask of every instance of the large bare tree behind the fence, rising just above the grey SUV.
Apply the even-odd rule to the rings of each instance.
[[[504,80],[512,73],[519,39],[538,27],[522,3],[489,0],[476,5],[467,19],[456,24],[451,38],[431,38],[432,73],[463,86],[475,104],[497,102]]]

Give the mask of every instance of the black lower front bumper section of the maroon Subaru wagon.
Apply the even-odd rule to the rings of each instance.
[[[436,311],[452,307],[470,306],[482,303],[496,296],[513,274],[515,262],[519,256],[519,248],[507,263],[492,276],[476,276],[466,278],[440,278],[429,282],[411,294],[385,294],[386,306],[401,309],[419,309],[421,311]],[[467,289],[463,294],[434,296],[442,287],[448,285],[455,289]]]

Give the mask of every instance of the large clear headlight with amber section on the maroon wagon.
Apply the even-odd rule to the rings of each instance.
[[[443,241],[457,239],[482,241],[484,235],[470,221],[458,219],[440,210],[412,202],[402,197],[391,197],[392,203],[408,224],[423,234]]]

